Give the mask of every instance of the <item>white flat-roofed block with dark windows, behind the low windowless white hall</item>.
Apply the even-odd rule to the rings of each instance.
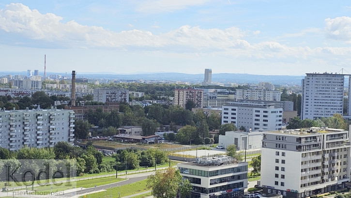
[[[222,124],[234,123],[247,131],[280,130],[283,109],[269,103],[229,102],[222,107]]]

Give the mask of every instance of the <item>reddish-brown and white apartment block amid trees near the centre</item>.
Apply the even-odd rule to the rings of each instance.
[[[185,108],[186,103],[191,100],[195,104],[195,108],[203,107],[203,90],[195,89],[175,89],[174,105]]]

